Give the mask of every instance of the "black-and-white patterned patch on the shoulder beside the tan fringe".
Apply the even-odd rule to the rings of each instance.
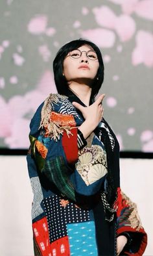
[[[79,116],[77,111],[75,110],[75,107],[72,105],[72,103],[68,100],[65,99],[62,103],[62,106],[60,107],[59,112],[61,114],[71,114],[73,116],[75,116],[76,118],[82,120]]]

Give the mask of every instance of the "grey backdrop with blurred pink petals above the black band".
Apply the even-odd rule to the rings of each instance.
[[[29,123],[56,93],[53,59],[70,40],[99,45],[104,117],[121,151],[153,151],[153,1],[0,3],[0,147],[29,147]]]

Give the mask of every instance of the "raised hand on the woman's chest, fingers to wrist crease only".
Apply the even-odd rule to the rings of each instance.
[[[97,127],[100,120],[102,120],[102,116],[104,113],[104,109],[102,107],[102,100],[104,99],[105,94],[102,94],[98,97],[98,99],[89,107],[83,107],[79,103],[73,101],[73,106],[76,107],[82,115],[84,119],[90,123],[93,127]]]

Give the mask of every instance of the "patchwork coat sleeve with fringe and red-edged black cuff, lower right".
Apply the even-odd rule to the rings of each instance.
[[[117,218],[117,235],[125,235],[128,243],[121,255],[143,255],[147,246],[147,233],[141,225],[137,206],[121,192],[121,212]]]

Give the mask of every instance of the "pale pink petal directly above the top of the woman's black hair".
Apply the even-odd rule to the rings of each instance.
[[[83,38],[95,42],[99,47],[110,48],[115,43],[115,34],[107,29],[88,29],[80,32]]]

